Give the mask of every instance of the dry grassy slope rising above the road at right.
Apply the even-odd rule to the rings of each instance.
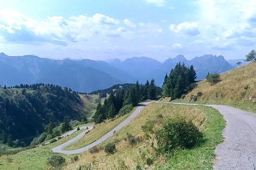
[[[196,103],[229,105],[242,110],[256,113],[256,98],[249,101],[249,96],[256,95],[256,62],[243,65],[237,69],[221,74],[221,82],[211,86],[205,80],[198,82],[198,86],[186,95],[184,100],[177,102],[188,102],[191,94],[196,95],[202,91],[203,95]],[[248,85],[246,90],[244,87]],[[219,98],[216,99],[216,92]],[[242,96],[244,93],[244,97]],[[165,99],[168,100],[168,99]],[[191,103],[193,101],[190,101]]]

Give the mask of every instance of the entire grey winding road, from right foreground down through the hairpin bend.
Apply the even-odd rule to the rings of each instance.
[[[145,102],[137,107],[137,109],[124,120],[121,124],[117,125],[112,131],[102,136],[97,141],[85,146],[84,148],[75,149],[72,151],[63,151],[62,149],[69,144],[81,139],[84,134],[75,137],[74,140],[61,144],[52,149],[54,152],[64,154],[76,154],[102,143],[108,137],[126,125],[132,118],[134,118],[144,106],[152,101]],[[171,103],[171,102],[158,102],[156,103]],[[182,105],[198,105],[189,103],[172,103]],[[247,113],[237,108],[223,105],[205,105],[216,108],[223,115],[226,120],[226,127],[223,130],[224,142],[219,144],[215,149],[216,160],[214,162],[214,170],[255,170],[256,169],[256,115]]]

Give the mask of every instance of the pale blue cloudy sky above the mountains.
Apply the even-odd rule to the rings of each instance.
[[[179,54],[245,58],[256,45],[255,0],[5,0],[0,52],[107,60]]]

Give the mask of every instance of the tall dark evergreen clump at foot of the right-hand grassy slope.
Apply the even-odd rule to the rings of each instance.
[[[165,75],[163,82],[163,96],[171,97],[172,100],[180,98],[189,90],[189,85],[195,82],[196,71],[191,65],[186,67],[185,64],[179,62],[174,69],[170,71],[169,76]]]

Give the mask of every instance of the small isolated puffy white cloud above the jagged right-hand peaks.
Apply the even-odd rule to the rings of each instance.
[[[198,29],[198,24],[195,22],[182,22],[177,26],[175,26],[174,24],[171,24],[169,28],[171,31],[175,33],[188,35],[188,36],[197,36],[198,34],[200,34]]]

